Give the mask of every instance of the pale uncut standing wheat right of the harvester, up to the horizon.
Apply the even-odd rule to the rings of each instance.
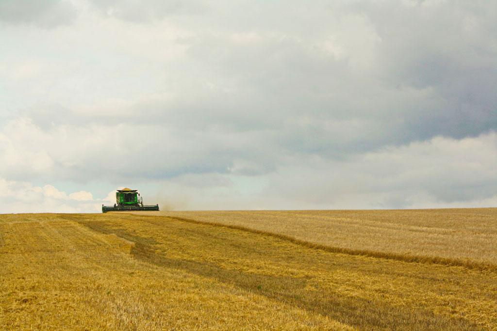
[[[497,270],[497,208],[161,214],[277,234],[349,254]]]

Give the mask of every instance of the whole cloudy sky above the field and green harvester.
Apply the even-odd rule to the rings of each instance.
[[[0,0],[0,213],[497,207],[497,2]]]

